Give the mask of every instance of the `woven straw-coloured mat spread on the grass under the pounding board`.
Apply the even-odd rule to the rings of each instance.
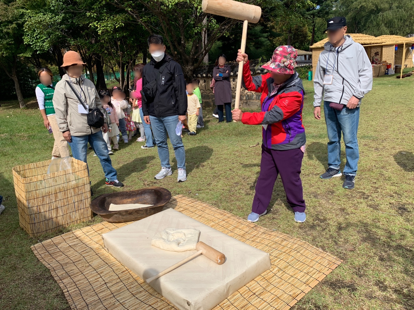
[[[342,262],[307,242],[195,199],[174,196],[166,207],[270,253],[272,268],[214,310],[289,309]],[[72,309],[177,309],[103,248],[101,235],[127,224],[101,222],[31,247],[51,271]]]

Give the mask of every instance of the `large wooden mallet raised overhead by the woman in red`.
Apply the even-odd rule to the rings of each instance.
[[[262,15],[262,9],[257,5],[237,2],[233,0],[203,0],[203,12],[240,19],[243,21],[243,34],[241,36],[241,52],[246,50],[247,24],[257,23]],[[241,80],[243,79],[243,62],[238,64],[236,101],[234,108],[238,109],[240,103]]]

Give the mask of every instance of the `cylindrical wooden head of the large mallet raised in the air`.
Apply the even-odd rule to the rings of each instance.
[[[233,0],[203,0],[203,12],[240,19],[249,23],[257,23],[262,15],[262,9],[257,5],[251,5]]]

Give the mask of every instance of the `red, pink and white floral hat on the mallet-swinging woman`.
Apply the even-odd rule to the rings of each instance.
[[[290,45],[280,45],[274,50],[272,59],[262,66],[263,69],[277,73],[295,73],[298,52]]]

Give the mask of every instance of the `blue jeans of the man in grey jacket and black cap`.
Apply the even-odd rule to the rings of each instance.
[[[348,109],[344,106],[342,111],[332,109],[330,102],[325,101],[323,110],[325,112],[326,128],[328,131],[328,166],[339,170],[341,164],[341,131],[344,135],[345,153],[347,163],[344,175],[356,175],[358,170],[359,149],[358,133],[359,107]]]

